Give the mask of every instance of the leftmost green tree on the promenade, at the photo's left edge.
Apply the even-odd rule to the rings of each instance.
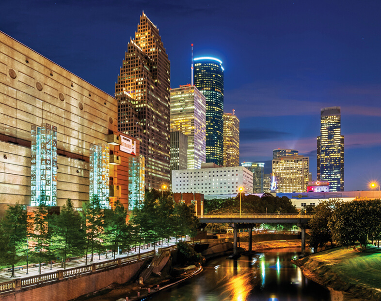
[[[12,265],[12,275],[15,277],[15,265],[26,256],[28,250],[28,214],[23,205],[15,204],[8,206],[3,220],[3,237],[6,236],[8,246],[3,255],[5,264]],[[5,244],[2,242],[2,244]]]

